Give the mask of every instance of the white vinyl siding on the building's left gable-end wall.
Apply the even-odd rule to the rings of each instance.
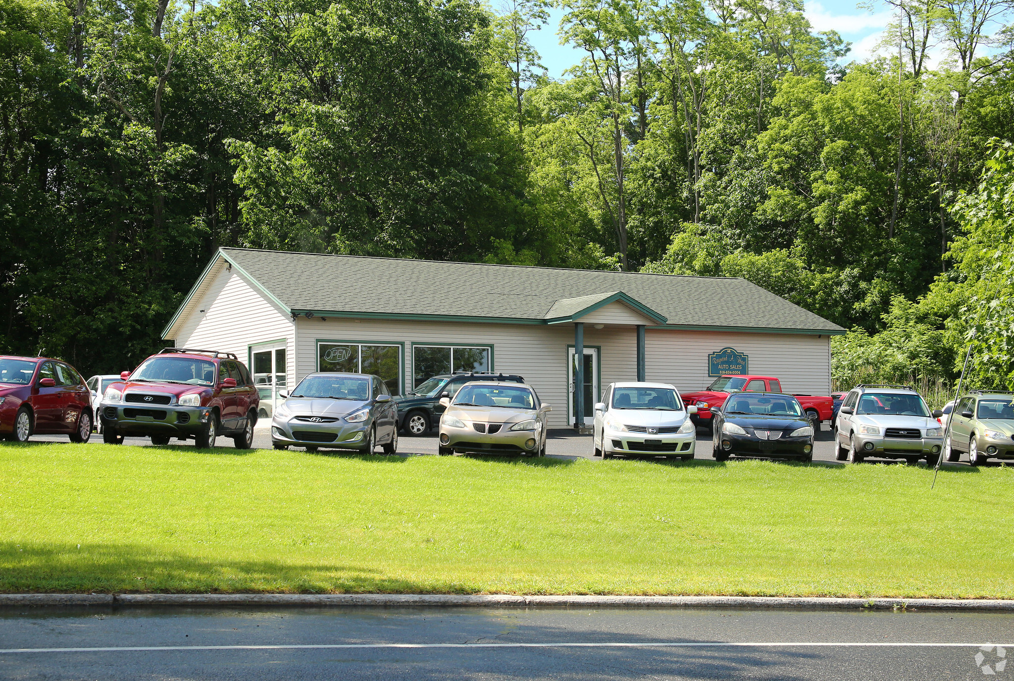
[[[285,339],[287,379],[295,378],[292,320],[235,271],[223,267],[213,273],[204,294],[176,328],[176,347],[233,352],[247,368],[250,345]]]

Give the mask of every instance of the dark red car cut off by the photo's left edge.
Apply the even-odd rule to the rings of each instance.
[[[0,355],[0,435],[26,442],[32,434],[67,434],[86,442],[91,422],[91,393],[73,366]]]

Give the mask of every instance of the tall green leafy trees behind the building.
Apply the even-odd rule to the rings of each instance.
[[[132,366],[248,246],[742,276],[853,329],[842,376],[914,329],[953,376],[1011,0],[890,0],[862,63],[799,0],[557,7],[562,78],[538,0],[0,0],[0,351]]]

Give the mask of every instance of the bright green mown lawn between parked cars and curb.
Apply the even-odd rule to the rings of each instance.
[[[0,591],[1014,598],[1014,470],[0,445]]]

